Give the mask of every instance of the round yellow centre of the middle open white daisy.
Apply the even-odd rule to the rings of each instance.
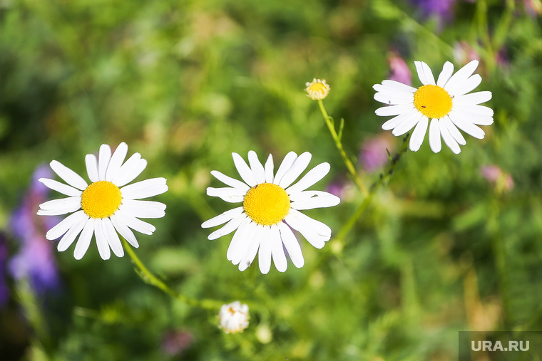
[[[277,184],[256,184],[248,190],[242,206],[252,221],[271,226],[282,221],[290,211],[290,197]]]

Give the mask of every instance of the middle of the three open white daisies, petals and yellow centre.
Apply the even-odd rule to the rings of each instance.
[[[290,227],[299,231],[316,248],[322,248],[331,238],[331,229],[327,225],[300,212],[303,209],[339,204],[339,197],[333,194],[305,190],[329,172],[329,163],[318,164],[292,185],[309,165],[312,157],[309,152],[299,157],[295,152],[288,153],[275,175],[271,155],[265,166],[262,166],[256,153],[251,150],[248,152],[250,167],[237,153],[232,153],[232,156],[237,172],[244,182],[214,170],[211,174],[230,187],[209,187],[207,194],[230,203],[242,202],[242,206],[205,221],[201,225],[203,228],[225,224],[211,233],[208,239],[218,239],[237,230],[226,256],[233,264],[239,265],[240,271],[245,271],[250,266],[258,248],[258,263],[264,274],[270,270],[271,258],[277,270],[286,271],[287,261],[283,247],[294,266],[301,268],[305,260]]]

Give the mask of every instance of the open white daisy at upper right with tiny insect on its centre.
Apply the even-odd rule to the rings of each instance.
[[[490,100],[491,92],[467,94],[482,81],[480,75],[472,75],[478,67],[478,61],[471,61],[454,75],[454,66],[446,61],[436,83],[426,63],[414,63],[423,84],[421,87],[412,88],[394,80],[383,80],[382,84],[373,86],[377,90],[374,99],[389,105],[377,109],[375,113],[382,116],[395,115],[382,125],[382,129],[393,130],[393,135],[398,137],[415,126],[409,143],[410,150],[414,152],[424,142],[428,126],[429,146],[435,153],[441,150],[442,137],[451,151],[459,154],[459,145],[466,144],[459,129],[483,139],[486,133],[478,125],[491,125],[493,110],[479,104]]]

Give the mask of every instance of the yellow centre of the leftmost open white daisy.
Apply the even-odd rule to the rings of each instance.
[[[81,194],[81,208],[92,218],[112,216],[121,202],[121,189],[111,182],[94,182]]]

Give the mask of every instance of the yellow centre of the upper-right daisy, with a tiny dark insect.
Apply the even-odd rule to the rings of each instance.
[[[439,85],[423,85],[414,93],[414,106],[421,114],[439,119],[450,113],[451,96]]]

